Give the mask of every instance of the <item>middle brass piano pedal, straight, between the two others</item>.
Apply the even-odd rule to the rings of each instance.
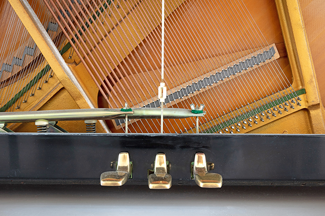
[[[154,162],[154,173],[148,176],[150,189],[169,189],[172,187],[172,176],[167,173],[166,155],[159,153]]]

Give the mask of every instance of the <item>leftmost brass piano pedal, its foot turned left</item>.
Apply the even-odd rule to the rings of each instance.
[[[100,185],[102,186],[121,186],[125,184],[130,176],[131,166],[130,157],[127,152],[118,155],[116,171],[103,172],[100,175]]]

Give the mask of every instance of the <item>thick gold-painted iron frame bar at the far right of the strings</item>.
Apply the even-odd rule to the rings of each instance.
[[[325,133],[322,111],[324,107],[319,98],[319,89],[311,59],[302,13],[298,0],[276,0],[276,7],[288,53],[295,90],[305,88],[309,119],[312,132]]]

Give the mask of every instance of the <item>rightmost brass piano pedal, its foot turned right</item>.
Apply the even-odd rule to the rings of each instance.
[[[222,176],[218,173],[209,173],[204,153],[196,153],[193,165],[195,182],[200,187],[220,188],[222,186]]]

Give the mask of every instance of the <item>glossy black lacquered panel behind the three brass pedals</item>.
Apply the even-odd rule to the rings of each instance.
[[[0,178],[3,183],[99,184],[100,174],[114,170],[110,162],[122,151],[133,162],[128,184],[146,184],[159,152],[170,161],[176,184],[195,184],[190,163],[196,152],[215,163],[212,172],[221,174],[224,184],[325,180],[323,135],[166,134],[0,134]]]

